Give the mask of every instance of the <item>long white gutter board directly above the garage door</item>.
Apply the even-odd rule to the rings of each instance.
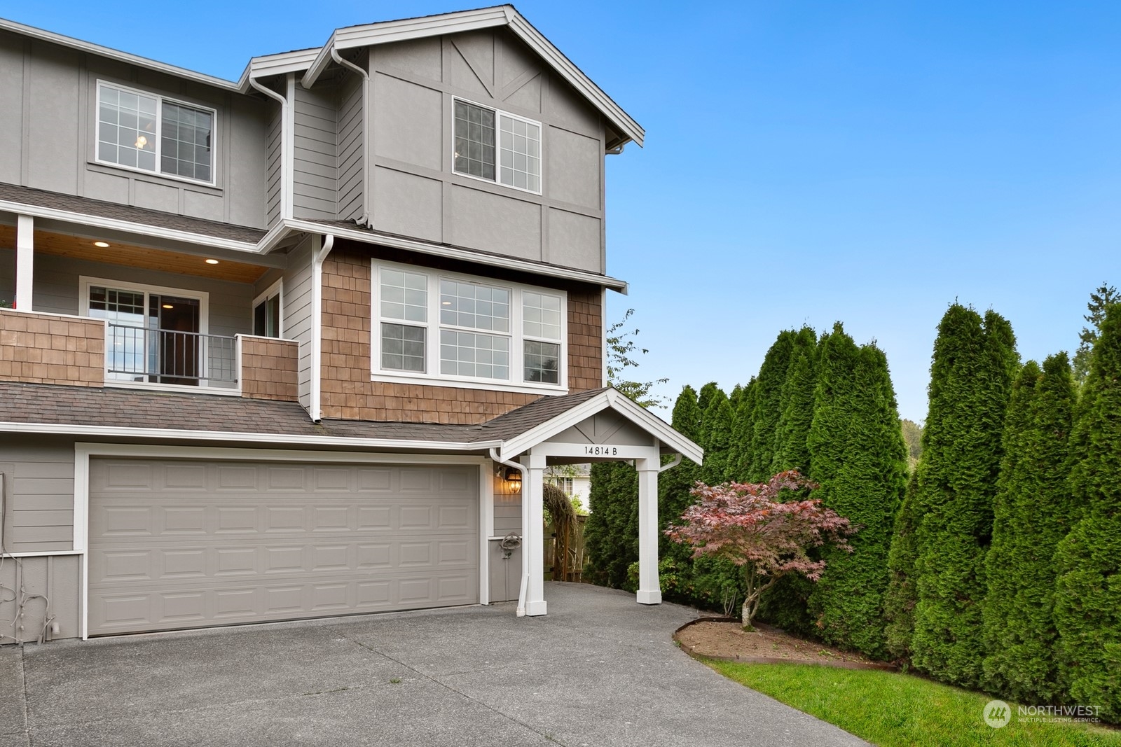
[[[501,441],[417,441],[389,438],[331,438],[327,436],[289,436],[287,433],[239,433],[174,428],[126,428],[56,423],[0,422],[0,432],[56,436],[99,436],[108,438],[187,439],[215,442],[279,443],[286,446],[333,446],[363,449],[411,449],[430,451],[485,451]]]

